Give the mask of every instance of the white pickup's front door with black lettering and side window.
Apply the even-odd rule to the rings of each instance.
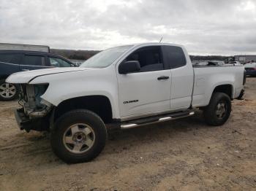
[[[121,118],[125,120],[168,111],[171,75],[162,60],[161,47],[140,47],[124,61],[138,61],[140,71],[119,74],[118,66],[116,68]]]

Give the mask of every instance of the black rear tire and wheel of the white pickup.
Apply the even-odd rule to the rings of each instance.
[[[224,104],[224,105],[223,105]],[[225,112],[222,114],[222,108],[218,106],[225,106]],[[221,110],[221,112],[219,112]],[[224,111],[224,109],[223,109]],[[204,118],[208,125],[223,125],[230,117],[231,101],[230,97],[225,93],[213,93],[211,101],[203,111]]]

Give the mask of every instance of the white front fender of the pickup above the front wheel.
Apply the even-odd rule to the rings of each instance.
[[[113,118],[119,118],[116,75],[111,68],[37,77],[30,84],[48,83],[41,96],[58,106],[62,101],[88,95],[104,95],[110,101]]]

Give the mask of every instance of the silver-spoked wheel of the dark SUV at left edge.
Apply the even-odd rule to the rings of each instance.
[[[17,87],[13,84],[5,82],[4,79],[0,80],[0,100],[10,101],[18,96]]]

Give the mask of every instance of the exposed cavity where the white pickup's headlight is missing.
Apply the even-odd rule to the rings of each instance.
[[[52,105],[41,98],[47,88],[48,84],[20,85],[19,104],[29,118],[44,117],[50,112]]]

